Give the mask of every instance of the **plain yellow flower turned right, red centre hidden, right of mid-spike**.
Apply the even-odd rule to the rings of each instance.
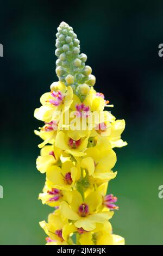
[[[112,149],[101,153],[94,147],[87,149],[85,153],[86,156],[81,161],[81,167],[86,169],[89,175],[103,181],[115,178],[117,172],[112,172],[111,168],[116,163],[116,154]]]

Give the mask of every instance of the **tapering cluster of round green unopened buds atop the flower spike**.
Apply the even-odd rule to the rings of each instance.
[[[55,72],[59,81],[71,86],[73,91],[82,97],[89,92],[91,86],[95,85],[96,78],[91,74],[91,67],[85,65],[87,56],[80,53],[80,41],[73,28],[61,22],[57,30],[55,55],[58,59]]]

